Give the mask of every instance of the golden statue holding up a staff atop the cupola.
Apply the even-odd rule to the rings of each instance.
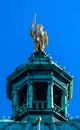
[[[48,44],[48,37],[46,31],[43,31],[43,26],[36,25],[36,15],[30,27],[30,35],[34,40],[34,51],[43,51]]]

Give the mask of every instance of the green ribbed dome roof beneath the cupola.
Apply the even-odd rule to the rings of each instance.
[[[0,120],[0,130],[79,130],[80,120],[56,122],[51,124],[33,124],[31,122],[15,122],[13,120]]]

